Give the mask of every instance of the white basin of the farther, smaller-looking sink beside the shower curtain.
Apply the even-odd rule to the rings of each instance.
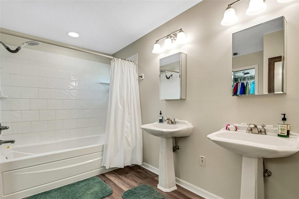
[[[151,135],[163,138],[186,137],[193,131],[193,125],[186,120],[177,120],[176,125],[155,122],[144,124],[140,128]]]

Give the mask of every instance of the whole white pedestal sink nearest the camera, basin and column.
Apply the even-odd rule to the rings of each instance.
[[[237,131],[220,131],[207,137],[225,149],[243,156],[240,198],[264,198],[263,158],[287,157],[299,151],[299,135],[277,136],[277,128],[266,127],[267,135],[246,133],[247,125]],[[259,129],[261,126],[258,127]]]

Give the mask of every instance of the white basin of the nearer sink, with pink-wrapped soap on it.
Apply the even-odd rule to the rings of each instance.
[[[277,136],[277,128],[267,128],[267,135],[246,133],[247,125],[236,125],[238,131],[225,128],[209,134],[208,138],[225,149],[247,157],[286,157],[299,151],[299,136],[291,132],[289,138]]]

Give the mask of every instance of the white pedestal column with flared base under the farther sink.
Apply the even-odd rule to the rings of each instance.
[[[172,147],[172,138],[160,138],[159,184],[157,188],[163,192],[172,192],[177,189]]]

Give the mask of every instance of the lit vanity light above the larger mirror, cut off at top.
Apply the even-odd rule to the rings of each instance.
[[[228,7],[226,8],[223,19],[221,21],[221,25],[228,26],[236,23],[238,21],[238,17],[236,15],[236,11],[232,7],[233,4],[239,2],[241,0],[234,1],[231,4],[228,4]],[[250,0],[248,9],[246,10],[246,15],[256,15],[264,10],[266,10],[267,5],[265,4],[266,0]],[[292,1],[292,0],[277,0],[277,1]]]

